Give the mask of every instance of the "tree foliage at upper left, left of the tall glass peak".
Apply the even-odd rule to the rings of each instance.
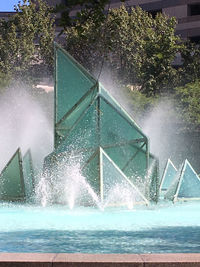
[[[25,78],[52,69],[54,19],[42,1],[27,1],[15,7],[16,14],[0,21],[1,72]]]

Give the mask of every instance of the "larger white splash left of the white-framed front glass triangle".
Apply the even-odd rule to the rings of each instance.
[[[67,204],[70,209],[74,206],[97,206],[101,202],[93,188],[81,173],[81,157],[63,159],[49,175],[45,172],[38,177],[36,185],[36,202],[42,206],[52,203]]]

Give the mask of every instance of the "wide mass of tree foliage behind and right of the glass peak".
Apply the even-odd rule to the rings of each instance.
[[[111,9],[105,21],[89,18],[66,29],[66,48],[90,71],[100,73],[102,63],[125,84],[137,84],[146,95],[173,86],[171,63],[181,48],[175,36],[176,20],[158,14],[155,19],[140,7],[130,12]]]

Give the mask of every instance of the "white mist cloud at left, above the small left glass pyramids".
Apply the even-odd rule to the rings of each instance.
[[[53,148],[53,122],[26,88],[11,88],[0,97],[0,171],[18,147],[22,154],[30,148],[34,165]]]

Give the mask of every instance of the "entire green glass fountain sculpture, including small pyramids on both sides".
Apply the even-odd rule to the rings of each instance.
[[[159,188],[158,160],[149,151],[148,137],[103,85],[57,44],[54,93],[54,150],[44,160],[45,180],[59,176],[61,166],[74,158],[101,203],[116,186],[127,188],[136,204],[157,202],[159,194],[172,201],[200,199],[200,178],[187,160],[179,171],[168,160]],[[35,191],[35,181],[30,151],[22,157],[18,149],[1,172],[0,199],[26,200]],[[54,190],[50,181],[51,186]],[[70,188],[70,180],[66,186]],[[109,204],[121,206],[123,200]]]

